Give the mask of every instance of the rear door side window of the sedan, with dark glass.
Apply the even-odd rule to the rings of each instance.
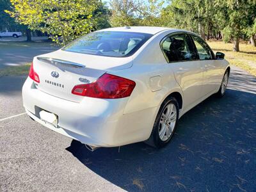
[[[170,35],[163,41],[162,49],[169,62],[195,60],[186,34]]]

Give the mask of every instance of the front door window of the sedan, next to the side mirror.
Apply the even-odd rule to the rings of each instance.
[[[193,41],[195,43],[198,56],[200,60],[211,60],[212,54],[211,49],[208,47],[207,44],[203,40],[201,40],[198,36],[192,35]]]

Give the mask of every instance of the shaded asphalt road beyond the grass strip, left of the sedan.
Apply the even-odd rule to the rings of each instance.
[[[49,42],[3,42],[0,41],[0,70],[6,66],[31,63],[34,56],[57,50]]]

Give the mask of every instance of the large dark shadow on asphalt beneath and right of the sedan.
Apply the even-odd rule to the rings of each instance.
[[[81,163],[127,191],[255,191],[256,95],[227,90],[179,121],[161,150],[135,143],[90,152],[78,141],[67,148]]]

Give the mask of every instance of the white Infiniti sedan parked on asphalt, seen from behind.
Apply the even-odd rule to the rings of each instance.
[[[160,148],[184,113],[224,95],[229,74],[224,54],[195,33],[109,28],[36,56],[23,104],[33,120],[90,150],[139,141]]]

